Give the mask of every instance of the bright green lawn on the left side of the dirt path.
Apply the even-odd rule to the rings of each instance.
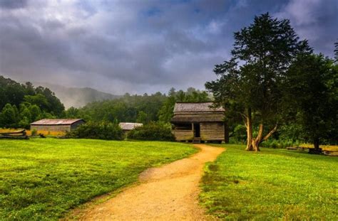
[[[187,144],[86,139],[0,141],[0,220],[57,220],[73,207],[184,158]]]

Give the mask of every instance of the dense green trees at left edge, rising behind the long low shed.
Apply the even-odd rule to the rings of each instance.
[[[0,127],[29,128],[43,118],[62,117],[64,107],[51,90],[0,76]]]

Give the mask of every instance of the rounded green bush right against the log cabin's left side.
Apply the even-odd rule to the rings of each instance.
[[[150,123],[129,131],[128,139],[143,141],[174,141],[170,124]]]

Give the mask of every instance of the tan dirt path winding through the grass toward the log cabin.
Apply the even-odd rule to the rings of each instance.
[[[198,205],[203,166],[224,149],[196,144],[200,152],[140,175],[140,185],[89,208],[80,220],[206,220]]]

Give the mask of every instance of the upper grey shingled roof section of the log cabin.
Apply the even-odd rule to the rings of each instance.
[[[222,107],[212,108],[212,102],[176,103],[174,112],[224,112]]]

